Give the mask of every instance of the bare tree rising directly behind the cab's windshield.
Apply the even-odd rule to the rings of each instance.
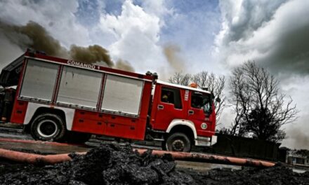
[[[208,90],[213,93],[215,97],[220,97],[220,102],[214,102],[216,107],[216,121],[218,122],[223,108],[225,107],[225,95],[223,93],[225,86],[225,76],[216,76],[213,73],[201,71],[198,74],[194,74],[191,78],[191,81],[197,83],[199,88],[208,88]]]

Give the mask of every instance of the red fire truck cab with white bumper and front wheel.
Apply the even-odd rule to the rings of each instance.
[[[190,151],[192,145],[210,146],[216,126],[213,95],[157,81],[150,118],[152,135],[162,140],[163,149]]]

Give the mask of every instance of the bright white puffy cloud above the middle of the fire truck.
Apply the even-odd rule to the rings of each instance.
[[[112,57],[129,61],[143,73],[162,67],[165,59],[158,45],[161,27],[157,15],[146,13],[132,1],[125,1],[121,9],[120,15],[103,14],[100,18],[101,29],[116,40],[109,47]]]

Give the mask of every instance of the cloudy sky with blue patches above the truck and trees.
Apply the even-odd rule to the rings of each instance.
[[[0,21],[37,22],[67,50],[97,44],[113,61],[163,79],[179,70],[228,77],[232,67],[255,60],[280,79],[282,93],[300,110],[296,123],[285,126],[284,146],[309,149],[308,9],[307,0],[0,0]],[[6,32],[0,44],[0,67],[22,53]],[[176,64],[164,48],[173,48]],[[221,122],[231,119],[226,109]]]

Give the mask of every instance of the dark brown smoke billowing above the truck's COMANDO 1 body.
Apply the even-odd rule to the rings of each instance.
[[[103,62],[107,67],[134,71],[133,67],[126,61],[119,60],[114,65],[108,51],[98,45],[88,47],[72,45],[70,50],[67,50],[60,45],[57,39],[48,34],[44,27],[32,21],[28,22],[25,26],[10,25],[0,21],[0,39],[1,46],[9,45],[22,51],[25,51],[27,48],[33,48],[55,57],[65,57],[88,64],[102,64]],[[5,53],[3,54],[5,55]]]

